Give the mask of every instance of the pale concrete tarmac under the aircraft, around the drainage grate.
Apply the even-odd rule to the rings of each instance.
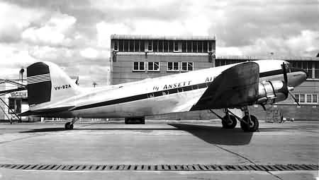
[[[220,121],[145,125],[0,124],[0,164],[318,164],[319,122]],[[318,171],[37,171],[0,168],[0,179],[315,179]]]

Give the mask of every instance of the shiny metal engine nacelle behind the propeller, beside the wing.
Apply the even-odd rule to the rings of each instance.
[[[286,100],[289,92],[286,83],[281,80],[265,80],[259,83],[259,95],[256,104],[274,104]]]

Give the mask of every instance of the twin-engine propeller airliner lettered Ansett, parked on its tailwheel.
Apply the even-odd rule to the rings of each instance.
[[[235,128],[238,120],[242,130],[253,132],[259,124],[247,106],[286,100],[307,74],[286,61],[259,60],[87,89],[79,88],[56,64],[38,62],[28,66],[27,78],[30,107],[21,116],[73,118],[65,124],[68,130],[80,117],[122,117],[125,124],[144,124],[149,115],[225,109],[223,117],[213,112],[223,128]],[[236,116],[231,108],[245,116]]]

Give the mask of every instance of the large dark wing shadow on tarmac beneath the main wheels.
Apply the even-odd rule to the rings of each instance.
[[[182,131],[187,131],[207,143],[218,145],[247,145],[252,139],[250,132],[241,128],[225,129],[216,126],[194,124],[169,124]]]

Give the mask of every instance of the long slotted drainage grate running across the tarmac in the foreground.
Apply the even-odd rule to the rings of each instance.
[[[0,168],[57,171],[296,171],[318,170],[318,164],[0,164]]]

